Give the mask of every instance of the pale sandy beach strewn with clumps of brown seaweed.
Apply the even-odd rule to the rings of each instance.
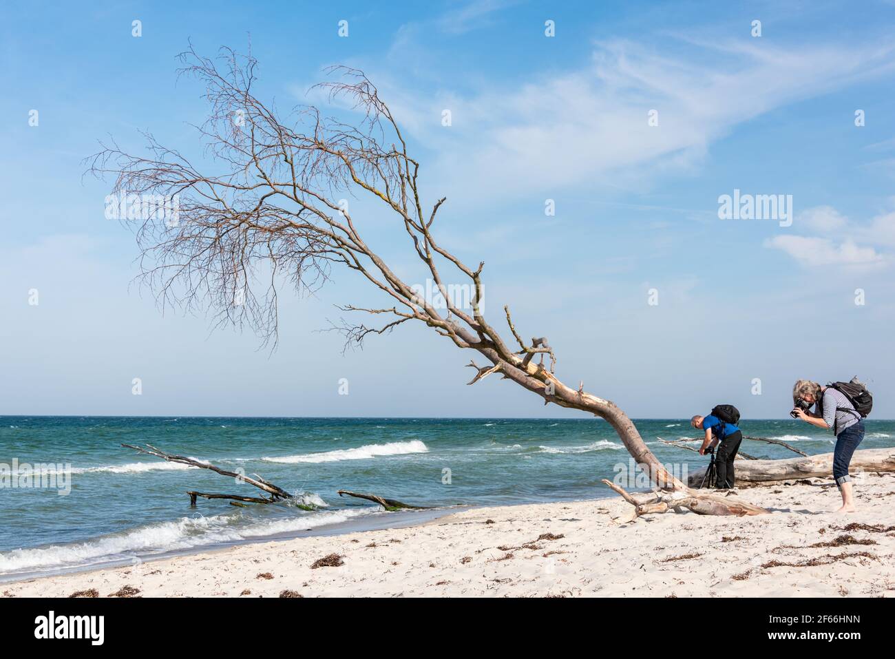
[[[895,596],[895,475],[864,475],[856,492],[859,509],[844,517],[828,512],[839,502],[829,481],[742,490],[773,509],[752,518],[670,513],[619,524],[630,510],[620,498],[468,509],[420,526],[246,544],[6,583],[0,592]],[[333,553],[342,565],[311,568]]]

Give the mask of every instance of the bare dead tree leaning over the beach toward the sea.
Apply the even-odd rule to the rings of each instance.
[[[251,53],[241,56],[223,48],[212,59],[190,47],[180,59],[181,73],[205,87],[209,117],[196,128],[213,160],[194,164],[146,134],[147,155],[132,155],[112,142],[88,161],[90,172],[114,179],[113,193],[119,198],[177,200],[175,221],[150,209],[135,230],[143,281],[155,290],[160,306],[214,312],[218,323],[248,325],[276,346],[279,287],[313,291],[334,267],[344,267],[388,300],[381,306],[340,307],[388,319],[374,327],[342,321],[346,346],[362,346],[366,338],[408,321],[419,323],[486,360],[483,366],[472,362],[477,374],[471,384],[500,372],[502,379],[533,392],[545,405],[600,416],[658,487],[683,492],[692,503],[688,507],[705,514],[741,514],[746,504],[712,501],[669,474],[610,400],[584,391],[583,383],[575,388],[560,381],[548,339],[535,336],[525,342],[507,306],[503,320],[512,338],[507,341],[490,324],[482,311],[484,262],[467,265],[436,239],[432,227],[446,200],[423,201],[420,162],[409,153],[391,109],[364,73],[332,67],[328,73],[336,80],[317,87],[330,101],[342,103],[341,118],[324,116],[312,106],[281,114],[254,95],[257,62]],[[345,110],[345,101],[350,110]],[[367,243],[360,218],[344,203],[358,198],[391,214],[408,252],[418,259],[422,277],[416,280],[433,282],[438,304],[400,278]],[[394,243],[389,240],[389,247]],[[469,304],[458,304],[450,294],[456,278],[471,289]],[[758,512],[764,510],[751,507],[752,514]]]

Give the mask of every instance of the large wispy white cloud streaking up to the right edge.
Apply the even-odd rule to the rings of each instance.
[[[401,81],[382,91],[399,122],[437,152],[427,178],[446,193],[494,197],[582,184],[643,190],[652,175],[698,166],[737,124],[895,66],[888,45],[737,42],[690,44],[687,52],[667,56],[616,40],[597,44],[583,68],[535,74],[521,87],[459,95]],[[439,123],[445,108],[450,127]],[[658,126],[648,124],[652,109]]]

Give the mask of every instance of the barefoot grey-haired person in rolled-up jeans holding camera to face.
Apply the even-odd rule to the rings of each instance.
[[[818,428],[830,428],[836,435],[833,449],[833,478],[842,495],[842,507],[836,512],[855,512],[848,465],[857,445],[864,439],[864,423],[851,400],[840,390],[822,387],[817,382],[798,380],[792,388],[795,408],[790,413]],[[809,412],[814,405],[814,413]]]

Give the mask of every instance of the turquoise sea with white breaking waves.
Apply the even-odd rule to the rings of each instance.
[[[657,438],[694,437],[686,421],[650,419],[638,429],[663,462],[695,469],[706,458]],[[831,451],[830,432],[791,420],[744,421],[744,434]],[[862,449],[895,446],[895,422],[868,420]],[[294,492],[294,505],[235,508],[187,490],[255,496],[260,491],[208,470],[168,464],[122,442],[260,474]],[[756,457],[793,457],[744,441]],[[0,488],[0,578],[138,561],[167,552],[376,526],[388,513],[339,489],[423,506],[495,505],[609,496],[601,478],[628,455],[600,419],[337,419],[0,416],[0,477],[13,461],[36,466],[43,487]],[[64,474],[71,465],[70,492]],[[61,465],[56,467],[55,465]],[[449,470],[448,473],[445,471]],[[449,483],[447,482],[449,480]],[[18,482],[21,484],[21,480]],[[48,486],[53,485],[54,487]],[[396,513],[405,515],[406,513]],[[392,515],[392,518],[395,516]]]

